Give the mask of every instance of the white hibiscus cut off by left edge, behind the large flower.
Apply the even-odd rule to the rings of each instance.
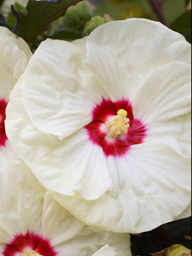
[[[0,27],[0,168],[18,161],[6,137],[4,121],[10,91],[24,72],[32,56],[28,44],[10,30]]]

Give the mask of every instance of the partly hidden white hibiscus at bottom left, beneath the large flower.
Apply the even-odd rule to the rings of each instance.
[[[109,256],[109,251],[111,256],[131,256],[129,235],[83,224],[46,192],[25,164],[0,170],[0,194],[2,256],[91,256],[106,244],[96,255]]]

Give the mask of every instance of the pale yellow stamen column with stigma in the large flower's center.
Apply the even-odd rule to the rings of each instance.
[[[127,111],[120,109],[118,115],[112,116],[109,121],[105,122],[107,128],[107,135],[111,138],[116,138],[119,135],[127,133],[129,128],[129,118],[127,118]]]

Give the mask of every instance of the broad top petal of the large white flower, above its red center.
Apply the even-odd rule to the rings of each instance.
[[[89,35],[85,63],[110,99],[132,99],[156,68],[173,61],[191,63],[190,52],[190,43],[161,23],[127,19],[106,23]]]

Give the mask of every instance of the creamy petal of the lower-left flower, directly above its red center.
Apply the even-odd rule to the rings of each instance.
[[[9,243],[14,235],[41,229],[45,189],[25,164],[0,170],[0,241]]]

